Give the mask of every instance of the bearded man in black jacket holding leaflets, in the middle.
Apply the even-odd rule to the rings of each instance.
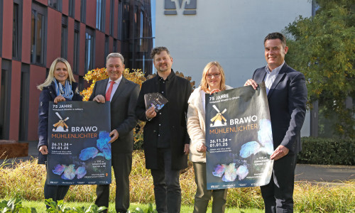
[[[158,75],[143,82],[136,116],[146,121],[143,146],[146,168],[151,169],[155,204],[160,212],[180,212],[180,170],[187,168],[190,138],[186,129],[187,100],[192,92],[190,82],[175,75],[173,58],[165,47],[152,50],[151,57]],[[159,92],[168,103],[155,112],[146,109],[144,94]]]

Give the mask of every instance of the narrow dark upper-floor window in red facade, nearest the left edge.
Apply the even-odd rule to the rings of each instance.
[[[12,57],[17,60],[21,59],[21,3],[13,1]]]

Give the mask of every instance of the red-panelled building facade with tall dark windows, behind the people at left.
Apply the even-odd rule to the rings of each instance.
[[[1,0],[0,20],[0,140],[38,140],[36,86],[55,58],[70,62],[80,90],[112,52],[152,72],[150,0]]]

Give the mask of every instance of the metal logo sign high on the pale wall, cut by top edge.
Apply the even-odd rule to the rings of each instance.
[[[164,9],[164,15],[196,15],[197,0],[165,0]]]

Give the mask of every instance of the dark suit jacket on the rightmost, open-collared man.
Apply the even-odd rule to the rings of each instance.
[[[255,70],[253,80],[260,83],[265,76],[265,67],[261,67]],[[291,153],[301,151],[300,131],[305,121],[306,102],[305,75],[285,62],[268,92],[274,148],[283,145]]]

